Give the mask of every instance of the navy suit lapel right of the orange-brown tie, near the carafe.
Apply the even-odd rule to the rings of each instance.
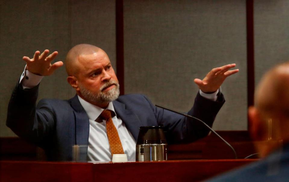
[[[112,102],[115,113],[121,120],[125,123],[127,129],[133,135],[134,139],[137,141],[140,126],[142,126],[140,119],[136,114],[132,113],[130,110],[125,108],[125,105],[117,100]]]

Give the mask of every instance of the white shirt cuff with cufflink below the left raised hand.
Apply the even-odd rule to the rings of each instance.
[[[29,72],[28,70],[26,70],[26,66],[25,66],[24,71],[20,77],[19,83],[22,84],[22,87],[24,89],[33,88],[41,82],[42,78],[43,76],[35,75]]]

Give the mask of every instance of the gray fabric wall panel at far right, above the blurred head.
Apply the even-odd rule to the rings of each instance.
[[[255,83],[277,63],[289,61],[289,1],[254,1]]]

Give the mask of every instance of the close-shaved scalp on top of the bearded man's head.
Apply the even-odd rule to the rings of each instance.
[[[77,62],[80,56],[94,54],[98,51],[102,51],[102,49],[90,44],[78,44],[71,48],[65,58],[65,68],[68,76],[74,76],[78,73]]]

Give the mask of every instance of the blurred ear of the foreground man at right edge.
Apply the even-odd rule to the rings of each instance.
[[[264,126],[262,125],[262,118],[259,111],[256,107],[250,106],[248,110],[249,116],[249,132],[253,140],[263,140],[264,134],[267,134],[264,131]]]

